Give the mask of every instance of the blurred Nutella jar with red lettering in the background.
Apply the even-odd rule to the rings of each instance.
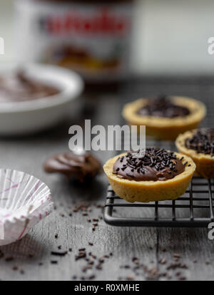
[[[130,73],[132,0],[16,0],[18,58],[52,63],[86,81]]]

